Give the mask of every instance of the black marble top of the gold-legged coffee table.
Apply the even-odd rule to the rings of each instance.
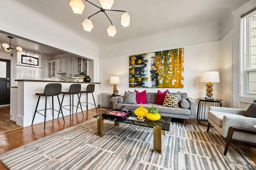
[[[94,117],[95,118],[102,117],[102,114],[96,115]],[[132,115],[130,115],[128,117],[137,117],[137,116],[134,113],[132,113]],[[132,124],[132,125],[139,125],[139,126],[143,126],[143,127],[150,127],[150,128],[162,127],[162,130],[166,130],[166,131],[169,131],[170,122],[171,122],[171,117],[167,117],[167,116],[161,116],[161,119],[159,119],[158,121],[150,121],[148,118],[144,117],[144,119],[145,119],[144,122],[130,121],[130,120],[126,120],[126,119],[121,120],[121,119],[106,118],[106,117],[102,117],[102,119],[109,120],[109,121],[121,122],[121,123],[128,123],[128,124]]]

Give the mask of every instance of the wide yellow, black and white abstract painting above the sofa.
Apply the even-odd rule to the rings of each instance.
[[[184,49],[129,56],[129,87],[184,87]]]

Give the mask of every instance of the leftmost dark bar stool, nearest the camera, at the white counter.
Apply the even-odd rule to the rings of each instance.
[[[47,110],[47,97],[48,96],[52,96],[52,119],[54,119],[54,116],[53,116],[54,115],[53,114],[54,111],[57,111],[57,110],[54,109],[53,97],[57,96],[58,97],[58,102],[59,102],[59,105],[60,105],[60,111],[61,111],[61,114],[62,114],[62,118],[63,118],[63,121],[65,123],[65,120],[64,120],[64,117],[63,117],[63,112],[62,112],[62,109],[61,109],[60,98],[58,96],[61,93],[61,87],[62,86],[61,86],[60,83],[50,83],[50,84],[47,84],[45,86],[44,93],[36,93],[36,95],[38,95],[38,101],[37,101],[37,104],[36,104],[36,110],[35,110],[35,113],[34,113],[34,117],[33,117],[33,121],[32,121],[31,126],[33,125],[36,113],[39,113],[38,110],[37,110],[37,107],[38,107],[38,103],[40,101],[40,97],[41,96],[45,96],[45,106],[44,106],[44,109],[39,110],[39,111],[43,111],[44,110],[44,115],[39,113],[40,115],[44,116],[44,130],[45,130],[45,122],[46,122],[46,110]],[[60,115],[60,111],[58,111],[59,115]]]

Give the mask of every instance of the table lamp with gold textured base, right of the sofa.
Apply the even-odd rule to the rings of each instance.
[[[220,76],[218,71],[206,71],[201,74],[201,83],[206,83],[206,97],[205,99],[213,100],[213,83],[220,83]]]

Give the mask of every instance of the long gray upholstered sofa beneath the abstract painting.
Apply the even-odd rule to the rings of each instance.
[[[150,108],[151,106],[156,106],[158,108],[158,113],[161,116],[170,116],[172,118],[178,118],[178,119],[196,119],[196,102],[194,99],[188,97],[187,93],[180,93],[181,99],[186,99],[190,103],[189,109],[183,109],[181,107],[175,108],[175,107],[166,107],[158,104],[154,104],[156,100],[156,94],[157,93],[146,93],[146,98],[148,104],[142,104],[143,107],[146,109]],[[138,107],[140,107],[140,104],[126,104],[123,103],[124,96],[115,97],[114,98],[114,108],[120,109],[120,107],[125,106],[126,109],[134,111]]]

